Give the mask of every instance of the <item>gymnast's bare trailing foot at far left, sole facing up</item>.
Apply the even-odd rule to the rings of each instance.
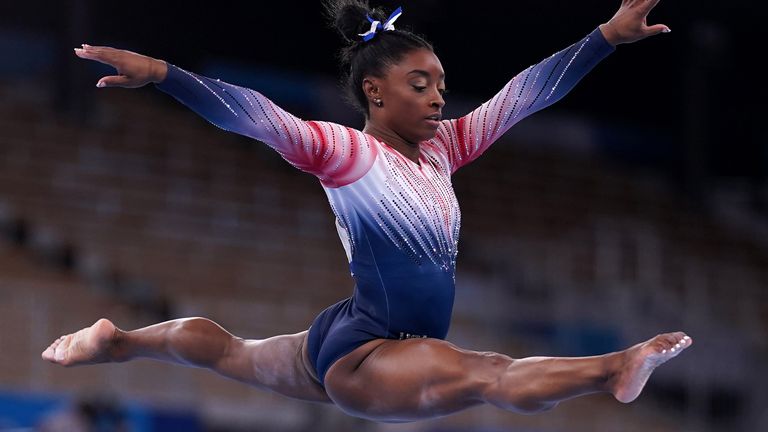
[[[90,327],[56,339],[42,357],[62,366],[107,362],[116,330],[111,321],[102,318]]]

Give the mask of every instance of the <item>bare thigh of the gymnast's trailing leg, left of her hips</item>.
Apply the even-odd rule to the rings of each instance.
[[[263,340],[233,339],[217,369],[224,375],[283,396],[331,402],[306,351],[307,331]]]

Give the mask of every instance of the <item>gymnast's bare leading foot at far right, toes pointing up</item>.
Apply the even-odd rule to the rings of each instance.
[[[683,332],[666,333],[624,351],[622,367],[611,385],[613,396],[624,403],[637,399],[653,370],[692,343],[693,339]]]

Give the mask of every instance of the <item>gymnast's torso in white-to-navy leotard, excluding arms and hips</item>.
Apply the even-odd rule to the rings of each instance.
[[[370,169],[350,184],[325,187],[356,281],[354,306],[376,323],[379,337],[444,338],[461,218],[448,162],[429,142],[417,164],[364,138],[375,152]]]

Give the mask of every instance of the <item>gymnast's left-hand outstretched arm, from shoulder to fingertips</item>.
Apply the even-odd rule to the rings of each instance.
[[[157,87],[216,126],[263,141],[295,167],[339,186],[359,178],[372,162],[363,134],[328,122],[304,121],[251,89],[185,71],[162,60],[110,47],[83,45],[75,53],[109,64],[118,75],[98,87]]]

